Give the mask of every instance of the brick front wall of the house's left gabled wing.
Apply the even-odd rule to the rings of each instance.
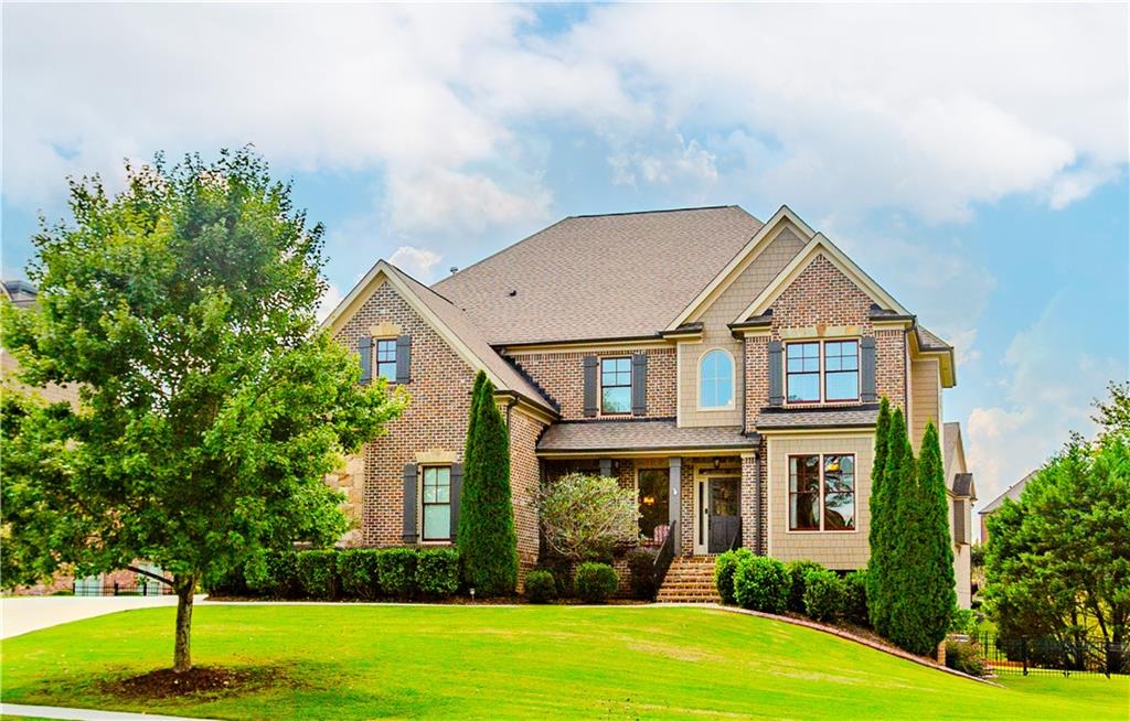
[[[447,343],[384,283],[337,333],[338,342],[357,348],[357,338],[370,328],[391,324],[411,335],[411,383],[405,387],[411,403],[388,433],[366,443],[360,543],[367,546],[400,545],[403,531],[405,464],[416,454],[445,451],[461,459],[470,412],[475,373]]]

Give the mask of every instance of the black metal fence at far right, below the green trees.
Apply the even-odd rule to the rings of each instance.
[[[1130,644],[1102,636],[1005,638],[981,633],[973,640],[981,648],[985,666],[996,674],[1130,674]]]

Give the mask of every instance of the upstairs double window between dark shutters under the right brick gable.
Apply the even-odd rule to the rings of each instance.
[[[785,345],[785,393],[789,403],[859,399],[859,341]]]

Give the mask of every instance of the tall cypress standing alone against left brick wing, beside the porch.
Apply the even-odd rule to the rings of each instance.
[[[484,596],[513,593],[518,535],[510,493],[510,431],[494,399],[494,384],[479,371],[463,452],[463,490],[455,543],[463,582]]]

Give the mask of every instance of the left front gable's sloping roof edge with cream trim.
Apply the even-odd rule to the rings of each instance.
[[[553,404],[518,369],[490,348],[461,309],[388,261],[376,262],[365,278],[322,322],[322,327],[337,333],[384,283],[391,284],[412,310],[424,318],[471,368],[486,372],[497,390],[514,393],[540,410],[556,414]]]

